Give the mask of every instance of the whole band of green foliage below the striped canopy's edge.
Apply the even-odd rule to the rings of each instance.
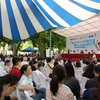
[[[30,38],[28,38],[26,40],[22,40],[22,41],[12,41],[12,40],[9,40],[7,38],[0,37],[0,47],[5,47],[6,45],[8,45],[9,50],[11,50],[12,49],[11,45],[14,43],[14,44],[16,44],[17,51],[18,50],[20,51],[24,47],[28,47],[28,46],[33,45],[33,47],[38,47],[39,50],[43,53],[43,50],[49,48],[50,31],[51,31],[51,29],[34,34]],[[58,35],[56,33],[52,33],[52,49],[55,49],[55,48],[58,48],[59,50],[65,50],[66,38],[61,36],[61,35]]]

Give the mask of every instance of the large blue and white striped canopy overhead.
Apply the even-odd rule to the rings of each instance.
[[[52,27],[69,27],[100,12],[100,0],[0,0],[0,35],[23,40]]]

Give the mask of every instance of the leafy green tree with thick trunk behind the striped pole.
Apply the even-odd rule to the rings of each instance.
[[[40,56],[44,56],[44,50],[48,49],[50,46],[50,31],[43,31],[30,37],[33,47],[38,47],[40,50]],[[59,50],[65,50],[66,48],[66,38],[52,33],[52,49],[58,48]]]

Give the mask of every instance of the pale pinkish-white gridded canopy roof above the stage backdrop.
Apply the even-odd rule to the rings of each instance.
[[[77,25],[55,29],[53,32],[65,37],[100,32],[100,14],[97,14],[93,18],[85,20]]]

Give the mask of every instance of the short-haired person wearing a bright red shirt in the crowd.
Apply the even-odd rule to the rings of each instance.
[[[20,67],[21,67],[21,59],[18,57],[13,58],[12,60],[13,62],[13,68],[11,70],[11,74],[20,77],[21,73],[20,73]]]

